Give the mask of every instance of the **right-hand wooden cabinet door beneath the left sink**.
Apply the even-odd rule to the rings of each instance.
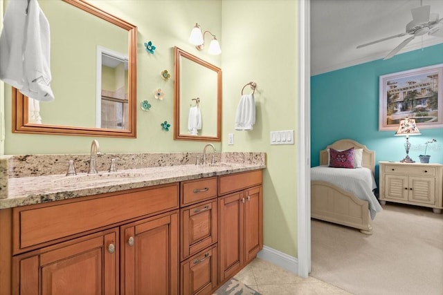
[[[178,294],[178,211],[124,225],[120,233],[121,294]]]

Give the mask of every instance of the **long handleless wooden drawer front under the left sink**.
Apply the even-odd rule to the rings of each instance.
[[[179,184],[13,210],[14,251],[179,207]]]

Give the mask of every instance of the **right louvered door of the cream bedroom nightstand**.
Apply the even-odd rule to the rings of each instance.
[[[435,178],[409,178],[409,200],[421,204],[435,204]]]

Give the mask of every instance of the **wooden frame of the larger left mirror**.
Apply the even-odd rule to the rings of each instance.
[[[136,137],[136,81],[137,81],[137,27],[123,19],[100,10],[83,0],[63,0],[84,12],[99,17],[128,32],[128,129],[100,129],[93,127],[34,124],[28,122],[28,97],[12,87],[12,132],[55,135],[89,135],[102,137]],[[93,97],[95,100],[96,97]]]

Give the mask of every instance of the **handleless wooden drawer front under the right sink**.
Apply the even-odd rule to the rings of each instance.
[[[262,184],[262,170],[219,176],[219,195]]]

